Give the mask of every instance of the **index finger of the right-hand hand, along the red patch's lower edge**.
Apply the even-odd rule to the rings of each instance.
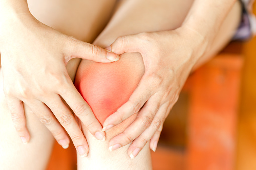
[[[148,85],[151,84],[150,87]],[[138,87],[134,90],[129,100],[123,104],[115,113],[111,114],[103,123],[103,131],[110,129],[111,127],[123,122],[131,115],[137,113],[146,101],[154,93],[154,82],[152,79],[143,76],[138,84]]]

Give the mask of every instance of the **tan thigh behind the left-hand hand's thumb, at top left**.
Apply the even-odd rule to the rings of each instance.
[[[28,0],[29,10],[40,22],[79,40],[92,43],[111,17],[116,0]],[[69,61],[74,80],[80,59]]]

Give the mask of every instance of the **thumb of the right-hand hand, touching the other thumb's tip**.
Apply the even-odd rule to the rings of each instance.
[[[106,49],[116,54],[123,53],[136,53],[140,52],[143,40],[140,34],[118,37],[110,46]]]

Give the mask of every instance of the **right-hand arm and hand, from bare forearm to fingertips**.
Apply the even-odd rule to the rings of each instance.
[[[157,10],[157,3],[154,3],[151,11]],[[141,8],[144,8],[142,3]],[[138,52],[145,65],[138,87],[129,100],[105,120],[103,130],[121,123],[140,109],[141,111],[124,133],[110,140],[109,146],[124,146],[133,141],[128,149],[130,155],[134,150],[141,150],[150,141],[150,148],[156,150],[164,120],[177,101],[187,77],[229,41],[234,28],[239,24],[240,10],[239,2],[234,0],[196,0],[181,27],[121,36],[107,47],[117,54]],[[160,14],[160,11],[157,13]],[[177,16],[182,15],[179,13]],[[145,17],[142,21],[146,19]],[[164,21],[169,21],[164,17],[158,20],[162,20],[161,23],[156,22],[160,27]]]

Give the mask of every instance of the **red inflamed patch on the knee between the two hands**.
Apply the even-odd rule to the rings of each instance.
[[[141,79],[141,69],[122,61],[80,64],[75,86],[101,124],[128,101]]]

